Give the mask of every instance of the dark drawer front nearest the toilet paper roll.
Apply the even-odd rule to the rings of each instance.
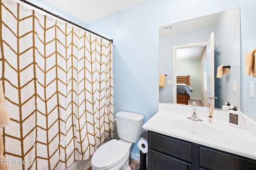
[[[150,132],[149,147],[191,162],[191,144]]]

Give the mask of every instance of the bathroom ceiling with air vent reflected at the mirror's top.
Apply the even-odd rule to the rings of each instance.
[[[191,20],[186,20],[182,22],[176,22],[172,24],[172,30],[163,30],[162,27],[159,27],[159,36],[168,36],[172,34],[178,34],[180,32],[187,32],[192,30],[197,30],[199,28],[206,28],[214,26],[218,18],[218,13],[210,14]]]

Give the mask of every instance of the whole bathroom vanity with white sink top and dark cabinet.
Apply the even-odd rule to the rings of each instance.
[[[190,107],[159,104],[159,111],[143,128],[148,130],[149,170],[255,170],[255,123],[244,118],[244,128],[228,126],[225,111],[198,109],[203,122],[186,119]],[[171,111],[171,112],[170,112]],[[204,116],[205,114],[205,116]]]

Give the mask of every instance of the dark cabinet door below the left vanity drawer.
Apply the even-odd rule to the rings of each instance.
[[[191,164],[154,150],[149,150],[149,152],[149,170],[191,170]]]

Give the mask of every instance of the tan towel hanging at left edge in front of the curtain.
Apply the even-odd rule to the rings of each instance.
[[[4,90],[2,82],[0,82],[0,128],[5,127],[10,122],[10,117],[6,111],[4,104]],[[4,155],[4,144],[2,140],[2,133],[0,131],[0,160],[6,160]],[[0,164],[0,170],[8,170],[8,164]]]

